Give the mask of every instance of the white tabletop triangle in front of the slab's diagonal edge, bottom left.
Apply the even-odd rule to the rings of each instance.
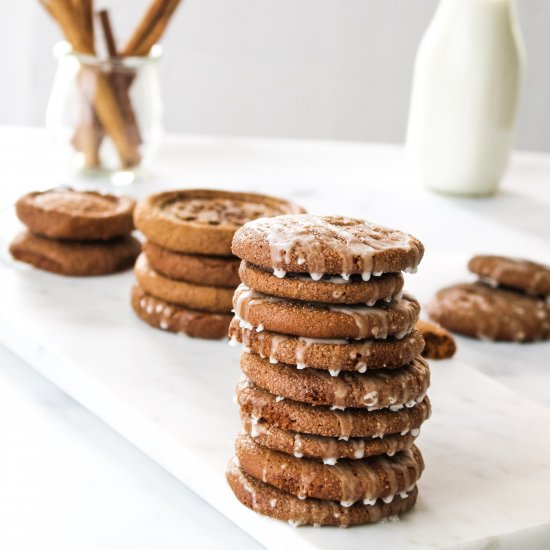
[[[260,548],[1,346],[0,439],[1,548]]]

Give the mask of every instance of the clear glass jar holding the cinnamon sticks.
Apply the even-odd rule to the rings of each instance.
[[[66,148],[73,169],[131,183],[162,136],[160,46],[147,57],[98,58],[61,42],[54,55],[46,128]]]

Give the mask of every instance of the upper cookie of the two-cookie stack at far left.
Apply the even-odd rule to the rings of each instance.
[[[135,201],[96,191],[51,189],[23,195],[15,208],[33,232],[67,240],[105,240],[134,229]]]

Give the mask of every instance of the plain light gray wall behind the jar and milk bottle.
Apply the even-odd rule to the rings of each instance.
[[[121,42],[147,4],[97,3],[112,8]],[[436,6],[437,0],[185,0],[163,40],[166,128],[402,142],[413,60]],[[517,144],[550,150],[550,2],[520,0],[518,9],[527,72]],[[55,70],[51,47],[59,37],[37,0],[5,6],[1,124],[43,124]]]

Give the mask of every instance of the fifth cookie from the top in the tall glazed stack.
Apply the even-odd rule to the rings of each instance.
[[[413,407],[424,399],[430,385],[430,369],[422,357],[390,371],[341,373],[331,376],[316,369],[298,370],[284,363],[273,364],[254,353],[241,354],[241,370],[255,386],[293,401],[369,411]]]

